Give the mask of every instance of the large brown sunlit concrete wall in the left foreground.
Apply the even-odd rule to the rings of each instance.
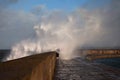
[[[56,52],[0,63],[0,80],[53,80]]]

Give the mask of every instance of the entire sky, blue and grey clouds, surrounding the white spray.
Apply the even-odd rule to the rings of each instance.
[[[119,46],[119,3],[119,0],[0,0],[0,49],[9,49],[14,44],[33,37],[36,34],[33,28],[37,24],[43,22],[60,25],[69,18],[71,21],[75,19],[73,24],[77,27],[74,28],[85,30],[84,34],[91,34],[92,32],[86,29],[94,28],[89,26],[86,28],[85,25],[88,23],[91,25],[97,20],[101,23],[99,30],[106,32],[99,33],[102,40],[99,38],[92,40],[95,36],[86,36],[90,37],[91,41],[84,42],[85,45],[102,46],[104,43],[106,45],[114,43],[114,46]],[[90,20],[87,20],[89,17]]]

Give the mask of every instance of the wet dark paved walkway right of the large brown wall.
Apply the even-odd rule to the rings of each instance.
[[[120,80],[120,72],[81,58],[57,60],[54,80]]]

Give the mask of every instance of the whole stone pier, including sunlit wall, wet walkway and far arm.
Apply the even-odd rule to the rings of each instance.
[[[58,53],[53,51],[0,62],[0,79],[120,80],[120,69],[91,62],[91,60],[99,59],[99,56],[104,55],[118,57],[118,50],[80,50],[79,52],[80,54],[86,53],[86,58],[62,60]],[[107,56],[102,58],[107,58]]]

